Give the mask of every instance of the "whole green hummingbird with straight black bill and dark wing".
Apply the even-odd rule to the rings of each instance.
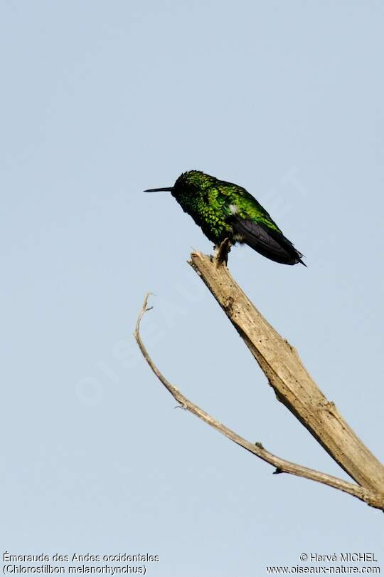
[[[267,211],[238,184],[218,180],[200,170],[189,170],[178,177],[173,187],[144,192],[158,191],[171,192],[216,247],[228,239],[230,245],[245,243],[272,261],[300,262],[306,266],[303,255],[282,234]]]

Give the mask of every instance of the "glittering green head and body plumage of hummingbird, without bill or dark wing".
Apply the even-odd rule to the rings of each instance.
[[[261,204],[238,184],[190,170],[178,177],[171,194],[215,244],[233,236],[230,219],[235,214],[281,233]]]

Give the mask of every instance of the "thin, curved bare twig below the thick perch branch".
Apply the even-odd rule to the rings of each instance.
[[[161,374],[159,369],[154,364],[154,361],[149,356],[149,353],[146,350],[146,347],[142,342],[142,338],[140,336],[140,323],[142,321],[142,317],[144,316],[144,313],[146,313],[146,311],[150,311],[152,308],[152,307],[147,308],[148,296],[149,294],[146,295],[142,306],[142,310],[139,313],[136,329],[134,331],[134,338],[136,339],[137,344],[139,345],[139,348],[142,351],[142,354],[146,362],[151,367],[151,370],[154,371],[156,377],[159,378],[161,383],[169,391],[169,393],[171,393],[174,399],[180,403],[181,407],[183,407],[184,409],[193,413],[193,415],[196,415],[201,420],[208,423],[210,427],[213,427],[215,430],[218,430],[223,435],[225,435],[225,437],[228,437],[228,439],[240,445],[240,447],[247,449],[247,451],[251,452],[252,454],[255,454],[263,461],[272,464],[274,467],[276,467],[275,473],[289,473],[296,475],[297,477],[304,477],[305,479],[310,479],[312,481],[328,485],[329,487],[334,487],[334,489],[339,489],[340,491],[346,492],[352,495],[353,497],[357,497],[357,499],[361,499],[361,501],[365,501],[367,504],[377,509],[384,509],[383,494],[376,493],[372,489],[359,487],[358,485],[344,481],[343,479],[338,479],[337,477],[321,473],[314,469],[309,469],[308,467],[302,467],[302,465],[295,464],[286,461],[285,459],[281,459],[280,457],[277,457],[276,455],[270,453],[264,447],[262,447],[261,443],[251,443],[240,437],[240,435],[237,435],[228,427],[225,427],[225,425],[215,420],[213,417],[208,415],[207,412],[203,411],[200,407],[198,407],[193,402],[188,400],[174,385],[171,385],[171,383],[169,383],[169,380],[167,380],[164,377],[164,375]]]

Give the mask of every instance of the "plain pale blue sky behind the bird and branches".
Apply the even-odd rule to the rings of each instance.
[[[230,270],[383,459],[383,26],[380,1],[1,3],[3,550],[148,552],[159,577],[382,557],[379,511],[174,410],[132,332],[151,290],[143,338],[183,393],[345,477],[186,264],[200,229],[142,193],[242,184],[308,268],[242,247]]]

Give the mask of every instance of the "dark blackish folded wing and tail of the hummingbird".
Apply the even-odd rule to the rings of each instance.
[[[302,261],[302,254],[297,251],[292,242],[285,238],[281,232],[274,231],[261,222],[235,217],[233,230],[239,237],[240,242],[245,242],[255,251],[267,259],[282,264],[297,264]]]

